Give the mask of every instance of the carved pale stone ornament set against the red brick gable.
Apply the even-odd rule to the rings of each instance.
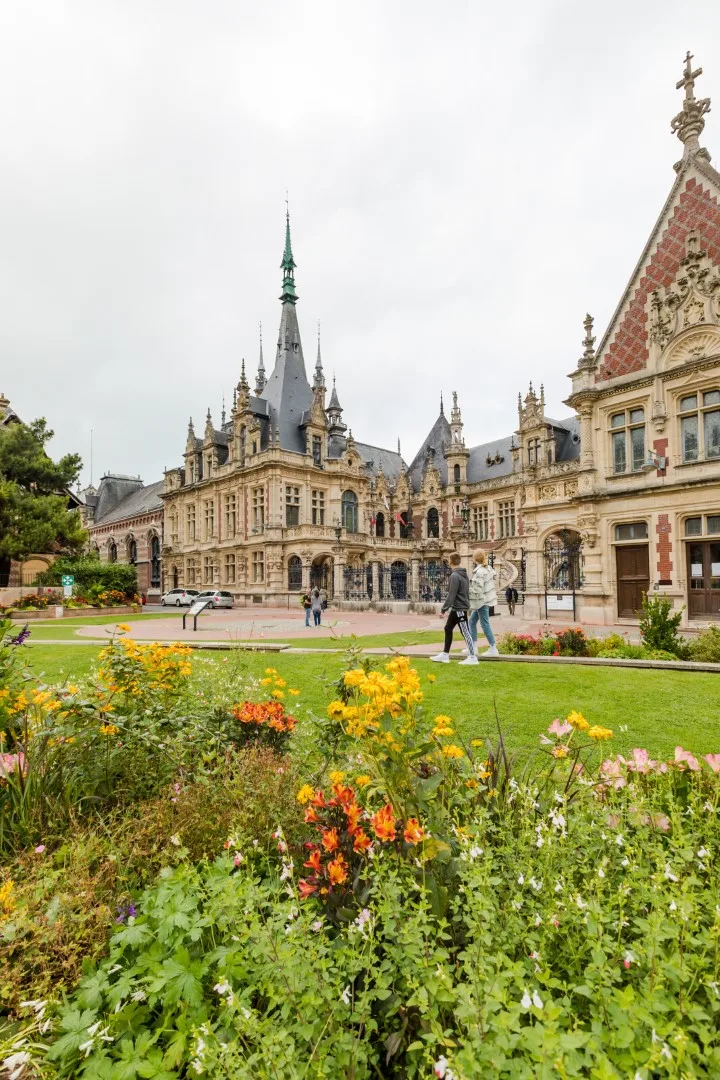
[[[688,233],[675,281],[648,297],[647,313],[651,362],[676,367],[720,351],[720,269],[696,231]]]

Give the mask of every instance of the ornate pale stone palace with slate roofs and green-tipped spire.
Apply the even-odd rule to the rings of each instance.
[[[254,389],[243,364],[230,418],[191,421],[165,473],[164,588],[295,604],[317,584],[337,603],[422,605],[449,552],[481,545],[528,618],[634,620],[652,591],[688,624],[720,617],[720,174],[691,60],[675,183],[597,347],[585,319],[566,419],[530,386],[504,438],[467,446],[453,394],[409,465],[399,446],[357,442],[335,384],[326,400],[320,341],[307,375],[288,219],[272,374],[261,348]]]

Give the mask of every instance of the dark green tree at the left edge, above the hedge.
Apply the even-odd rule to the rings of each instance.
[[[53,461],[45,420],[0,428],[0,564],[38,552],[78,552],[87,539],[69,488],[82,462],[77,454]]]

